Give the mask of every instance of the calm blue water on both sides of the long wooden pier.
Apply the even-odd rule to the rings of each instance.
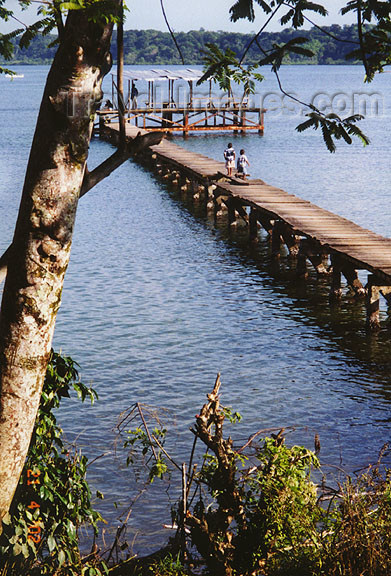
[[[20,71],[23,80],[0,79],[2,250],[12,238],[47,73]],[[295,132],[299,117],[278,110],[266,116],[263,137],[177,141],[222,160],[231,139],[236,149],[246,149],[252,176],[391,236],[391,75],[369,87],[358,67],[292,66],[281,76],[285,89],[307,99],[325,86],[330,97],[379,95],[381,114],[362,123],[371,146],[341,145],[331,155],[319,134]],[[263,93],[276,90],[268,77]],[[111,151],[94,141],[91,166]],[[91,459],[105,454],[90,474],[105,493],[98,506],[108,532],[138,490],[113,454],[119,413],[137,401],[170,409],[170,449],[181,459],[192,442],[188,428],[218,371],[223,402],[244,417],[236,436],[295,425],[292,441],[311,447],[314,433],[320,434],[326,464],[352,471],[376,458],[391,435],[390,334],[367,336],[363,307],[345,299],[342,309],[330,309],[327,292],[327,283],[314,276],[307,284],[295,282],[284,259],[270,260],[265,241],[250,251],[243,237],[216,227],[132,162],[83,198],[55,347],[80,363],[84,382],[100,400],[93,409],[68,401],[60,420]],[[163,496],[157,482],[134,509],[129,541],[136,535],[136,551],[167,537],[164,490]]]

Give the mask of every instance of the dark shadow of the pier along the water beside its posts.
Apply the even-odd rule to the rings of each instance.
[[[265,232],[259,233],[258,242],[249,242],[246,227],[230,228],[226,218],[215,220],[207,215],[203,202],[195,203],[191,197],[184,196],[166,182],[163,186],[182,210],[186,210],[226,244],[249,274],[262,276],[262,284],[283,300],[283,305],[296,320],[309,328],[320,329],[319,336],[336,345],[345,355],[347,363],[359,363],[364,370],[378,377],[376,390],[368,385],[366,392],[391,402],[391,389],[388,386],[391,327],[384,310],[381,312],[381,331],[368,332],[365,304],[357,300],[346,285],[343,286],[341,302],[330,303],[330,279],[317,276],[310,267],[307,279],[298,278],[296,262],[288,257],[284,248],[279,259],[272,257],[271,243]]]

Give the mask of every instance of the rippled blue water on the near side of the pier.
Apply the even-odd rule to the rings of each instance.
[[[99,148],[105,151],[107,144]],[[342,453],[348,470],[373,461],[390,435],[388,331],[367,336],[362,303],[345,296],[341,307],[330,308],[327,279],[311,273],[298,282],[286,256],[271,258],[265,235],[249,244],[245,230],[215,224],[203,204],[166,183],[153,184],[150,170],[128,165],[117,178],[122,195],[106,191],[105,198],[94,199],[93,210],[87,204],[85,215],[79,214],[88,218],[92,241],[84,233],[76,245],[69,278],[75,285],[69,286],[68,312],[66,303],[63,309],[72,340],[79,335],[78,350],[85,339],[81,364],[101,396],[83,422],[88,418],[91,457],[111,450],[113,421],[131,401],[141,401],[172,409],[173,453],[186,461],[188,428],[216,368],[224,401],[243,414],[235,432],[243,441],[260,427],[293,425],[290,442],[311,447],[319,432],[326,464],[342,461]],[[100,244],[94,225],[102,219],[107,229],[112,221],[118,230],[109,243],[103,234]],[[98,250],[94,255],[107,251],[109,264],[98,284],[91,246]],[[65,322],[60,336],[66,340]],[[65,428],[75,434],[68,410]],[[90,473],[106,495],[99,509],[109,538],[137,494],[136,483],[110,453]],[[170,503],[177,494],[171,492]],[[132,509],[128,534],[138,551],[152,552],[167,540],[161,525],[170,515],[163,500],[162,485],[154,484]]]

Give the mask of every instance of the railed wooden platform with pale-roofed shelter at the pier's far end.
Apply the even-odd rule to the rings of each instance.
[[[123,96],[126,123],[143,130],[181,132],[184,135],[189,132],[248,130],[263,134],[264,108],[251,105],[246,94],[235,97],[230,91],[218,96],[212,90],[212,81],[208,93],[197,95],[194,85],[202,74],[202,71],[191,68],[123,72],[122,80],[127,81],[127,93]],[[115,74],[111,76],[112,108],[104,107],[98,111],[100,125],[118,122],[118,81]],[[145,86],[143,93],[139,93],[136,82]]]

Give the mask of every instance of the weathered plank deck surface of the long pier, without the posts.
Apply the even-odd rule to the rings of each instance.
[[[110,124],[110,130],[118,131],[118,124]],[[128,138],[135,138],[141,129],[127,125]],[[163,140],[151,146],[163,162],[174,169],[188,172],[209,184],[215,184],[216,196],[237,198],[244,205],[256,208],[271,220],[288,225],[292,233],[314,241],[326,250],[340,254],[357,269],[368,270],[386,284],[391,283],[391,238],[367,230],[358,224],[338,216],[271,186],[261,179],[238,182],[225,175],[225,164],[181,148],[176,143]]]

